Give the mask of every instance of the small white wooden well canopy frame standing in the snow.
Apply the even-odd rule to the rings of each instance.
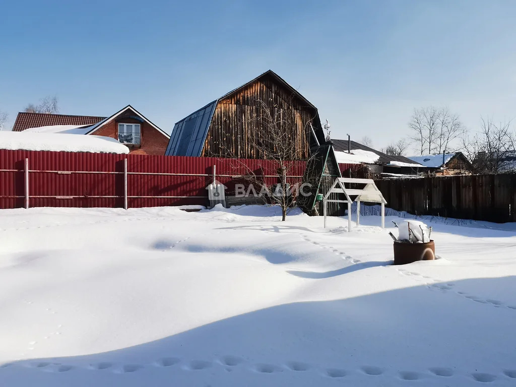
[[[363,188],[346,188],[345,184],[361,184],[365,185]],[[341,199],[329,199],[331,193],[342,193],[345,196],[345,200]],[[326,193],[324,199],[322,199],[322,214],[324,215],[324,227],[326,228],[326,203],[338,202],[348,203],[348,232],[351,231],[351,203],[354,197],[354,201],[357,202],[357,225],[360,224],[360,202],[373,202],[381,203],[382,206],[382,229],[385,228],[385,204],[387,201],[383,198],[382,193],[376,186],[372,179],[352,179],[352,178],[337,178],[331,185],[330,189]]]

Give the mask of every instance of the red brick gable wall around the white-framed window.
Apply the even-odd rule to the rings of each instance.
[[[167,149],[169,138],[160,131],[156,130],[147,121],[139,121],[134,118],[128,118],[128,116],[138,116],[136,112],[131,109],[123,112],[120,116],[112,119],[111,121],[104,124],[99,130],[90,133],[95,136],[107,136],[116,138],[118,140],[118,123],[134,123],[140,124],[141,130],[141,141],[140,145],[127,147],[131,150],[131,154],[147,154],[147,155],[164,155]],[[139,117],[139,116],[138,116]]]

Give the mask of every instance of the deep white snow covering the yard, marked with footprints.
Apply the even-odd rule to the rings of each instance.
[[[0,215],[2,386],[516,385],[514,224],[427,221],[441,259],[392,266],[377,216]]]

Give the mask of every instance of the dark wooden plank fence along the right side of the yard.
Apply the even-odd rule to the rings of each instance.
[[[516,221],[516,174],[378,180],[388,207],[414,215]]]

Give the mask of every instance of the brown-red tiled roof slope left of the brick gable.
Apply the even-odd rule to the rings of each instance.
[[[12,127],[13,132],[21,132],[29,127],[50,125],[93,125],[106,117],[69,116],[66,114],[27,113],[21,111]]]

